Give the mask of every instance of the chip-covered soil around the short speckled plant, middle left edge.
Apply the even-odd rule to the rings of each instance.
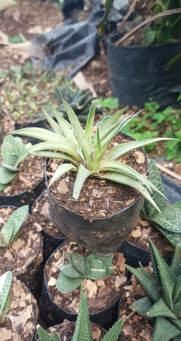
[[[14,212],[14,208],[0,208],[0,230]],[[0,249],[0,276],[10,270],[34,292],[43,260],[41,226],[28,214],[18,238],[10,247]]]

